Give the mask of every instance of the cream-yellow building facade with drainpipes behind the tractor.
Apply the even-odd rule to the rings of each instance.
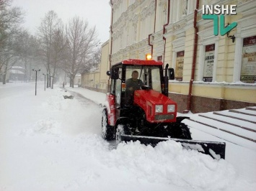
[[[189,108],[187,95],[193,70],[196,0],[112,0],[112,4],[111,65],[130,58],[144,59],[152,45],[153,59],[162,57],[164,65],[169,63],[175,68],[176,77],[180,76],[169,80],[169,97],[177,102],[180,112]],[[237,27],[229,33],[236,37],[234,42],[226,34],[213,35],[213,20],[202,19],[203,4],[237,5],[237,15],[225,16],[225,24],[237,22]],[[199,1],[192,112],[256,106],[255,81],[240,81],[244,78],[241,75],[246,51],[244,38],[256,36],[255,9],[256,1],[253,0]],[[180,52],[183,52],[182,57]],[[208,55],[214,55],[211,65],[206,61]],[[181,65],[176,65],[178,60]],[[247,64],[252,75],[256,75],[255,65],[255,62]]]

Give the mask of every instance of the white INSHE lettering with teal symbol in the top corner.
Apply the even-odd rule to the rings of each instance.
[[[231,29],[237,27],[237,22],[232,22],[225,27],[224,15],[236,15],[237,5],[203,5],[203,19],[213,19],[213,34],[218,36],[219,31],[221,36],[230,32]],[[219,14],[221,14],[219,16]],[[220,19],[220,23],[219,23]]]

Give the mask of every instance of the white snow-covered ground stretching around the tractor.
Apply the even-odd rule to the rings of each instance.
[[[43,85],[37,83],[36,96],[34,83],[0,85],[1,191],[256,189],[253,149],[226,141],[226,159],[219,161],[174,141],[113,149],[101,137],[104,93],[67,88],[89,101]],[[63,98],[71,94],[74,99]],[[224,141],[190,131],[193,139]]]

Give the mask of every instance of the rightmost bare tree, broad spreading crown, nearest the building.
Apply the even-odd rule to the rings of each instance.
[[[67,57],[63,68],[71,79],[70,86],[74,88],[76,74],[84,69],[98,43],[97,32],[95,27],[89,28],[87,21],[74,17],[66,27],[66,36]]]

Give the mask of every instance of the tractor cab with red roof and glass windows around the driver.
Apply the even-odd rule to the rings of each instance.
[[[133,72],[138,73],[135,81],[132,79]],[[115,95],[115,104],[120,108],[133,105],[133,95],[138,89],[164,93],[162,62],[125,60],[113,65],[108,75],[111,78],[110,94]],[[130,87],[129,81],[136,87]]]

